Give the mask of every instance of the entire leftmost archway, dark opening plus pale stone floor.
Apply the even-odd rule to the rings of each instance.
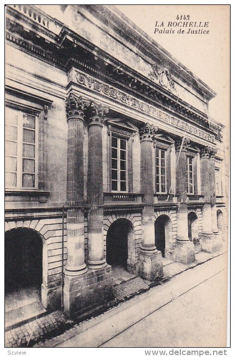
[[[5,233],[6,325],[42,310],[43,242],[39,233],[15,228]]]

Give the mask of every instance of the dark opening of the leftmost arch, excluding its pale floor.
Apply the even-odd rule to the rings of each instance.
[[[5,290],[35,287],[43,281],[43,243],[40,235],[27,228],[5,234]]]

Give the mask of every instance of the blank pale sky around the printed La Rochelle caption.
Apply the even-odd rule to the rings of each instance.
[[[209,114],[227,126],[230,90],[230,8],[228,5],[115,5],[132,22],[188,67],[217,95],[210,101]],[[155,33],[155,23],[175,22],[189,15],[192,22],[209,22],[209,34]],[[178,20],[179,21],[179,20]],[[163,27],[162,27],[163,28]]]

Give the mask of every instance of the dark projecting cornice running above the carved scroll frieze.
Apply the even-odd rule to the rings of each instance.
[[[11,31],[15,31],[13,27],[10,27]],[[45,62],[52,63],[63,70],[69,70],[69,68],[74,66],[83,68],[95,77],[100,78],[102,76],[105,81],[114,84],[117,88],[122,88],[126,92],[151,103],[157,108],[164,109],[185,121],[192,122],[199,128],[214,133],[216,134],[216,139],[221,140],[221,130],[218,130],[215,126],[209,126],[206,114],[182,101],[173,92],[169,92],[169,90],[164,89],[160,85],[152,83],[139,73],[135,71],[132,71],[132,73],[128,72],[127,66],[119,63],[115,58],[111,58],[104,51],[100,50],[99,58],[96,57],[94,53],[90,52],[94,52],[95,46],[89,44],[89,49],[85,49],[88,42],[83,39],[84,44],[81,45],[81,37],[75,33],[72,34],[73,36],[68,36],[68,39],[66,33],[71,35],[71,31],[66,27],[60,32],[61,45],[58,41],[57,44],[53,43],[53,41],[50,44],[45,43],[45,39],[41,41],[37,34],[33,32],[30,36],[27,31],[20,31],[20,33],[21,36],[19,35],[19,29],[18,35],[6,32],[7,41],[14,46],[20,47],[24,52],[30,53]],[[62,33],[64,34],[63,36],[61,36]],[[23,39],[22,36],[25,36],[26,39]],[[79,59],[77,58],[78,52]],[[105,55],[109,58],[109,62],[112,60],[113,64],[106,62]],[[117,67],[120,66],[125,68],[125,71],[118,71]],[[112,75],[108,75],[109,73],[112,73]]]

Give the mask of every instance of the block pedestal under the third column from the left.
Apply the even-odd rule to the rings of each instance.
[[[137,271],[141,278],[153,281],[163,276],[162,253],[144,253],[140,251]]]

